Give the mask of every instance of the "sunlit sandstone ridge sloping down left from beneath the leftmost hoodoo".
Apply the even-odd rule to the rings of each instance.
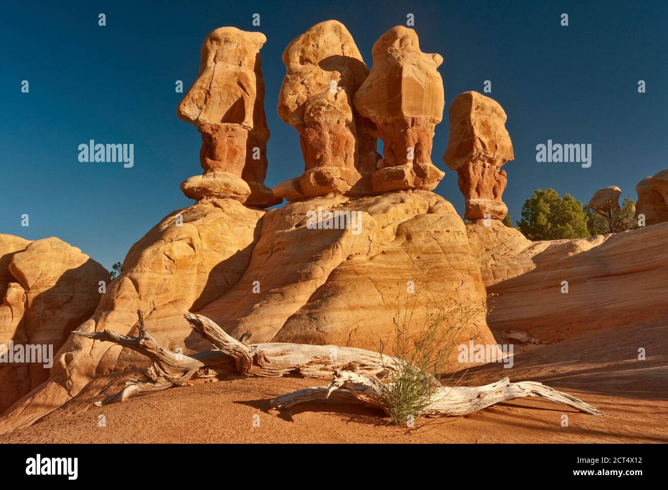
[[[259,237],[263,214],[236,199],[207,199],[171,213],[132,246],[123,272],[98,297],[99,305],[79,330],[136,334],[140,308],[146,327],[162,346],[182,348],[184,354],[210,350],[208,342],[192,334],[183,314],[236,283]],[[67,339],[55,354],[49,379],[9,410],[0,420],[0,431],[31,424],[77,394],[86,404],[110,383],[112,373],[146,366],[146,358],[130,350],[82,339]],[[81,393],[87,386],[92,391]]]

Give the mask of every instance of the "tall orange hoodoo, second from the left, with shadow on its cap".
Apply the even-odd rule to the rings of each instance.
[[[299,132],[305,172],[275,194],[296,201],[368,189],[379,156],[375,126],[353,108],[369,74],[353,37],[340,22],[321,22],[285,48],[283,63],[278,113]]]

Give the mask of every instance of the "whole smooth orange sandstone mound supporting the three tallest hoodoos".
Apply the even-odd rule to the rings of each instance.
[[[318,209],[348,212],[352,221],[329,228],[312,219]],[[469,304],[485,297],[462,219],[428,191],[331,195],[266,212],[234,199],[200,201],[166,217],[130,249],[123,273],[81,329],[135,332],[142,308],[149,332],[166,348],[210,350],[182,318],[192,311],[230,334],[251,330],[252,342],[373,350],[393,338],[396,298],[405,297],[407,281],[424,292],[418,327],[428,300]],[[484,318],[460,342],[470,339],[496,344]],[[460,368],[456,356],[455,350],[450,365]],[[73,396],[68,406],[77,410],[116,387],[122,370],[145,362],[115,344],[69,338],[49,380],[11,408],[0,431],[30,424]]]

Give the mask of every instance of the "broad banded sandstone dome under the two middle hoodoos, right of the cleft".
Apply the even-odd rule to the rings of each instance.
[[[309,228],[309,213],[318,209],[354,211],[359,227]],[[373,350],[391,337],[396,297],[405,296],[411,280],[426,292],[415,324],[427,298],[466,304],[485,295],[464,225],[448,201],[427,191],[309,199],[265,215],[244,275],[199,313],[232,336],[251,330],[254,342]],[[259,290],[251,293],[255,281]],[[482,319],[466,338],[492,342]]]

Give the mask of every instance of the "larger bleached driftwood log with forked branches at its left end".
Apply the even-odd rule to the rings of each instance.
[[[122,390],[96,402],[97,406],[122,402],[135,394],[183,386],[192,378],[204,378],[216,374],[259,377],[293,374],[304,378],[318,378],[332,376],[335,370],[349,369],[373,376],[384,374],[387,369],[394,366],[394,360],[389,356],[357,348],[281,343],[249,345],[245,341],[251,336],[251,332],[244,333],[240,340],[236,340],[212,320],[197,314],[186,314],[184,318],[196,332],[202,334],[218,350],[186,356],[160,346],[146,331],[142,311],[137,310],[137,315],[139,318],[137,337],[124,336],[110,330],[72,332],[95,340],[114,342],[151,360],[150,366],[140,378],[128,380]]]

